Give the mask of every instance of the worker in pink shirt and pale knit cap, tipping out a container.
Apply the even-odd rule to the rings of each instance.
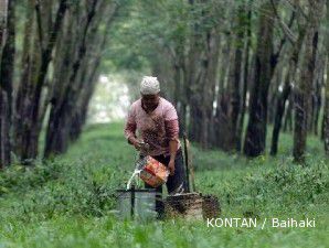
[[[159,93],[157,77],[145,76],[140,83],[141,98],[130,106],[125,136],[141,152],[141,157],[147,153],[168,168],[168,193],[182,193],[185,191],[185,172],[178,139],[178,115],[172,104]],[[147,151],[145,144],[148,144]],[[150,186],[146,184],[146,187]],[[162,186],[157,192],[162,193]]]

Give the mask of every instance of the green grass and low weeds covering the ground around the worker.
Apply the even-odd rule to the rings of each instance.
[[[328,160],[316,138],[305,166],[293,163],[287,133],[275,159],[193,145],[197,188],[219,196],[221,217],[316,218],[316,228],[209,228],[205,222],[113,216],[115,190],[125,186],[136,157],[121,129],[87,127],[66,154],[2,172],[0,247],[329,247]]]

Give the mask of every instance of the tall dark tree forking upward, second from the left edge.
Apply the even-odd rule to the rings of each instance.
[[[52,58],[59,32],[67,9],[67,0],[60,0],[51,28],[44,29],[42,10],[46,1],[29,0],[28,22],[25,25],[23,72],[18,89],[15,105],[15,152],[28,162],[38,155],[38,142],[41,131],[41,95]],[[35,12],[35,14],[34,14]],[[44,14],[46,17],[46,14]],[[34,19],[36,15],[36,20]],[[44,17],[43,15],[43,17]],[[42,108],[44,109],[44,108]]]

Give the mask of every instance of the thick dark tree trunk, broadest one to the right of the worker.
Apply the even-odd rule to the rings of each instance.
[[[250,119],[244,140],[244,153],[247,157],[257,157],[265,151],[267,95],[274,66],[273,62],[273,8],[269,2],[261,7],[259,30],[255,53],[254,85],[250,99]]]

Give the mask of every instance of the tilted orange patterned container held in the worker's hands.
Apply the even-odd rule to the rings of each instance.
[[[167,166],[150,155],[145,157],[140,163],[139,177],[152,187],[158,187],[167,182],[169,171]]]

